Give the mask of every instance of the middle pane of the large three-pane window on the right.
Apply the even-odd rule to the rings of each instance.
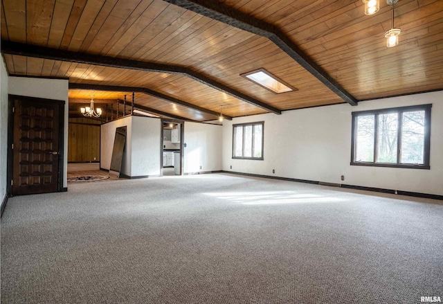
[[[379,115],[377,163],[397,163],[398,114]]]

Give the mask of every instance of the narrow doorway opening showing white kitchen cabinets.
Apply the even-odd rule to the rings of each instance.
[[[161,176],[183,175],[183,120],[161,120]]]

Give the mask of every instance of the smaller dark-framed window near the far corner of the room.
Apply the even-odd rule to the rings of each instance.
[[[233,159],[263,159],[264,122],[233,125]]]

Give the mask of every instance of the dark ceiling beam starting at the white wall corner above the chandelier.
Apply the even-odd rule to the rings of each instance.
[[[203,107],[199,107],[197,105],[192,105],[189,102],[179,100],[177,98],[165,95],[163,93],[153,91],[151,89],[141,88],[141,87],[120,87],[120,86],[112,86],[112,85],[100,85],[100,84],[82,84],[82,83],[70,83],[69,89],[80,89],[80,90],[96,90],[96,91],[116,91],[116,92],[136,92],[136,93],[145,93],[150,96],[154,96],[156,98],[160,98],[169,102],[173,102],[177,105],[181,105],[183,107],[188,107],[190,109],[195,109],[197,111],[201,111],[204,113],[212,114],[215,116],[219,116],[219,113],[216,111],[211,111],[209,109],[205,109]],[[233,118],[230,116],[224,115],[224,118],[227,120],[232,120]]]

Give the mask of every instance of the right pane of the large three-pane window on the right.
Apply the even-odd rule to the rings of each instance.
[[[403,113],[401,163],[424,163],[424,110]]]

